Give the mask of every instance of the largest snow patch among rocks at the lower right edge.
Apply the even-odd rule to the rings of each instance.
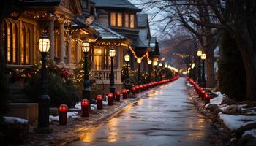
[[[227,128],[229,128],[231,131],[256,121],[256,116],[249,115],[227,115],[220,113],[219,118],[223,120]]]

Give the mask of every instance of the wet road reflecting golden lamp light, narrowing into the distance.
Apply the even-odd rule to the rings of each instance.
[[[189,101],[185,82],[162,85],[69,145],[211,145],[214,129]]]

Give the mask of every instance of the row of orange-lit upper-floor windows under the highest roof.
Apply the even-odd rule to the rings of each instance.
[[[128,12],[110,12],[110,26],[135,28],[135,14]]]

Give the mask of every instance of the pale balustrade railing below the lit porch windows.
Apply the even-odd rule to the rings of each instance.
[[[110,83],[110,70],[92,70],[92,79],[96,80],[97,84]],[[114,70],[115,84],[121,84],[121,69]]]

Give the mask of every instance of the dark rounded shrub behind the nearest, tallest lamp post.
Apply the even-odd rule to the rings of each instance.
[[[67,104],[68,107],[74,107],[80,100],[81,93],[72,82],[70,77],[65,75],[61,77],[59,72],[48,69],[48,96],[50,96],[50,107],[58,107],[60,104]],[[58,69],[57,69],[58,70]],[[63,72],[62,72],[63,74]],[[40,93],[40,77],[39,73],[30,77],[26,85],[25,91],[31,101],[38,101]]]

